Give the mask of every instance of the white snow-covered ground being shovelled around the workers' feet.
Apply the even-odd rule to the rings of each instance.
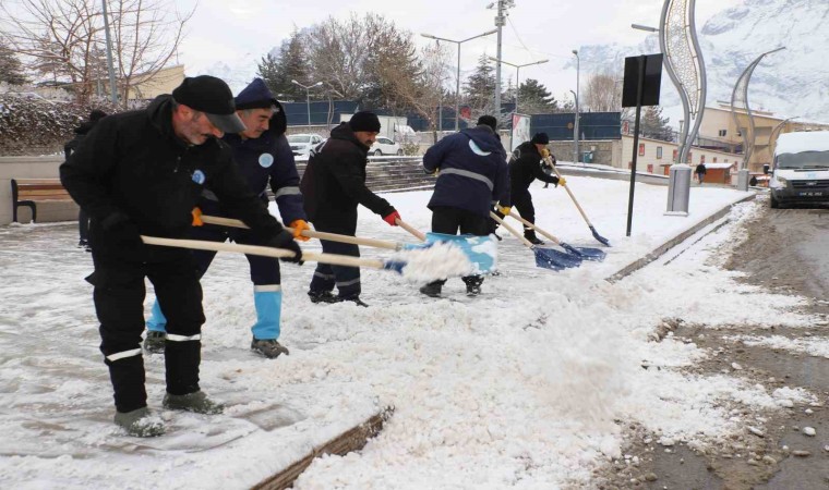
[[[229,408],[217,416],[163,411],[164,362],[145,356],[151,407],[171,429],[149,440],[111,422],[92,286],[83,281],[92,264],[74,249],[74,226],[0,229],[0,487],[248,488],[389,405],[394,416],[363,451],[317,458],[295,488],[589,486],[591,471],[621,454],[618,421],[705,445],[741,427],[729,404],[773,408],[813,397],[726,375],[684,375],[675,368],[706,353],[670,334],[650,340],[669,317],[808,324],[791,313],[798,298],[738,284],[737,272],[718,267],[720,250],[740,240],[736,224],[623,281],[604,281],[746,194],[694,187],[690,216],[677,218],[663,215],[666,187],[638,185],[627,238],[625,182],[568,182],[613,245],[604,262],[553,272],[505,236],[501,273],[486,279],[480,297],[467,298],[462,282],[450,280],[445,298],[428,298],[400,275],[363,270],[370,308],[312,305],[313,265],[284,265],[280,341],[291,354],[275,360],[248,351],[247,261],[219,254],[203,280],[202,387]],[[540,226],[572,245],[601,246],[563,189],[536,185],[532,193]],[[421,230],[431,219],[429,196],[386,195]],[[736,206],[730,219],[747,219],[755,206]],[[364,211],[359,235],[413,241]],[[148,294],[147,310],[151,302]]]

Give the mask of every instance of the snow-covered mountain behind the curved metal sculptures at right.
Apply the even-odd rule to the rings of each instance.
[[[759,54],[784,46],[764,58],[748,85],[748,103],[782,117],[829,122],[829,1],[745,0],[698,26],[700,48],[708,72],[707,105],[730,101],[743,70]],[[624,58],[659,52],[657,35],[630,47],[582,46],[581,70],[622,71]],[[663,73],[662,105],[678,106],[668,74]],[[675,111],[665,113],[675,114]],[[680,110],[681,113],[681,110]],[[678,121],[671,118],[671,124]]]

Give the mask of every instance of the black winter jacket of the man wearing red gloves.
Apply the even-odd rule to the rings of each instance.
[[[300,189],[305,213],[312,222],[357,224],[357,205],[385,217],[395,208],[365,186],[369,148],[355,136],[347,123],[332,130],[331,138],[314,148],[302,175]]]

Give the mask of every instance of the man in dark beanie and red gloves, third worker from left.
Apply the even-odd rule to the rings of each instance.
[[[311,151],[302,175],[305,213],[316,231],[353,236],[357,233],[357,206],[363,205],[397,226],[400,215],[386,199],[365,186],[369,148],[380,133],[380,120],[372,112],[361,111],[331,132],[323,145]],[[320,241],[324,253],[360,256],[353,244]],[[338,295],[332,294],[337,286]],[[360,269],[319,264],[308,292],[313,303],[353,302],[360,299]]]

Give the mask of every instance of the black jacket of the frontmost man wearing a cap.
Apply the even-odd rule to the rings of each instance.
[[[136,244],[124,249],[103,222],[125,215],[141,234],[183,238],[204,188],[219,198],[228,216],[263,240],[283,231],[248,187],[225,143],[209,138],[192,146],[176,136],[171,100],[169,95],[158,96],[145,110],[100,120],[61,164],[63,186],[92,217],[93,255],[166,260],[170,248]]]

